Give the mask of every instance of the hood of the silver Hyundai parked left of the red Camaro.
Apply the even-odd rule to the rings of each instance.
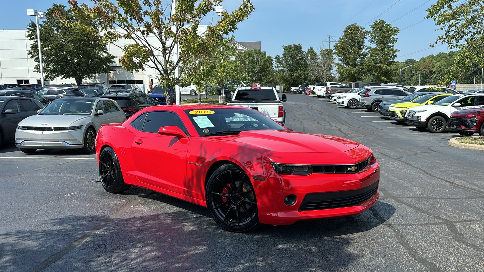
[[[91,115],[32,115],[20,121],[21,126],[71,126],[85,125],[91,120]],[[44,124],[44,125],[41,125]]]

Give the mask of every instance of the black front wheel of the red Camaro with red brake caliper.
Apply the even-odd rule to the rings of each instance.
[[[260,226],[254,187],[239,166],[225,164],[215,170],[205,198],[213,220],[223,229],[245,232]]]

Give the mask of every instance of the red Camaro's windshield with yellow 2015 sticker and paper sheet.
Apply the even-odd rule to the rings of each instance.
[[[236,135],[248,130],[286,130],[264,114],[249,108],[187,109],[185,113],[202,137]]]

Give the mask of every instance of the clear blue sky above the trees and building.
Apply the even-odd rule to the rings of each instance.
[[[87,0],[78,2],[90,3]],[[323,41],[328,41],[331,35],[333,46],[333,38],[337,40],[346,25],[365,24],[363,26],[368,29],[373,21],[383,19],[393,21],[392,26],[401,30],[395,46],[400,50],[396,60],[418,60],[449,51],[445,45],[429,48],[428,44],[437,38],[437,27],[432,19],[420,22],[424,20],[425,10],[435,2],[437,0],[252,0],[256,10],[239,24],[234,36],[240,42],[260,41],[262,50],[275,56],[282,54],[283,45],[302,44],[304,50],[309,46],[328,48],[328,43]],[[32,18],[26,14],[26,9],[46,11],[53,3],[68,6],[67,0],[0,0],[3,11],[0,29],[24,29]],[[239,4],[240,0],[226,0],[223,6],[232,11]],[[216,17],[214,15],[213,19]],[[413,24],[416,25],[411,26]]]

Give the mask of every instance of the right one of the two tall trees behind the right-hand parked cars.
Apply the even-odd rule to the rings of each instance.
[[[380,83],[393,82],[396,53],[400,51],[395,49],[395,36],[400,30],[381,19],[370,25],[370,28],[368,40],[375,47],[368,50],[365,74]]]

